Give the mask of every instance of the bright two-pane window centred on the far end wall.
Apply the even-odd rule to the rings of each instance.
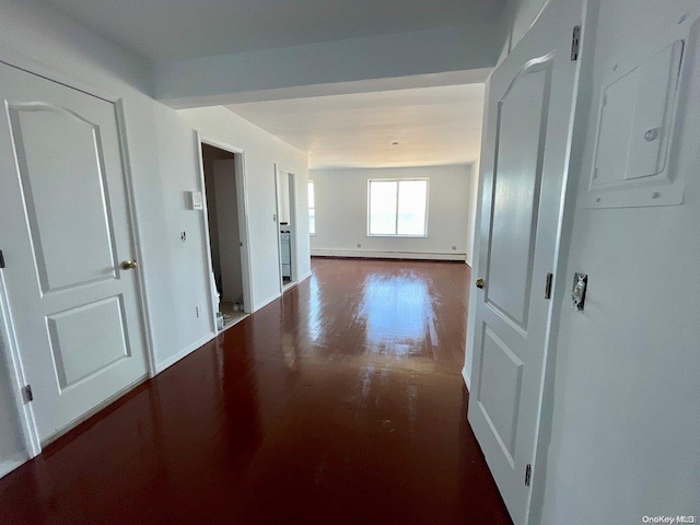
[[[425,237],[427,222],[427,178],[370,180],[370,235]]]

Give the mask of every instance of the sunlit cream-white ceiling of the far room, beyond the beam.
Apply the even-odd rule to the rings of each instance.
[[[312,168],[460,164],[479,158],[483,84],[226,107],[308,152]]]

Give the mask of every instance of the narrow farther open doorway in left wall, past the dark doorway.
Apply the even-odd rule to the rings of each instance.
[[[280,258],[280,291],[284,293],[296,278],[296,180],[293,173],[276,167],[278,247]]]

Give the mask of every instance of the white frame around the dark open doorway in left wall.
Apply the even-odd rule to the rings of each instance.
[[[211,323],[212,330],[214,334],[219,334],[217,329],[217,312],[214,312],[211,306],[211,298],[213,296],[213,287],[211,285],[211,271],[212,271],[212,261],[211,261],[211,238],[209,237],[209,214],[208,214],[208,203],[207,203],[207,188],[205,185],[205,159],[202,154],[202,144],[212,145],[214,148],[219,148],[220,150],[228,151],[229,153],[233,153],[235,168],[234,168],[234,177],[236,184],[236,198],[238,205],[243,203],[243,207],[238,206],[238,234],[241,236],[241,243],[243,243],[243,247],[241,249],[241,277],[243,280],[243,306],[245,308],[245,313],[253,313],[253,295],[250,290],[250,283],[253,282],[253,267],[250,265],[250,225],[249,225],[249,213],[248,213],[248,191],[247,191],[247,183],[245,176],[245,151],[234,145],[224,144],[222,142],[218,142],[213,139],[209,139],[203,137],[198,131],[195,131],[195,144],[197,147],[198,155],[199,155],[199,188],[202,195],[202,224],[203,224],[203,250],[205,250],[205,259],[207,260],[207,290],[209,292],[209,308],[211,312]]]

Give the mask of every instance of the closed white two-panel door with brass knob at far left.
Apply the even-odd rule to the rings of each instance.
[[[4,65],[0,97],[0,249],[44,441],[147,374],[124,162],[114,104]]]

